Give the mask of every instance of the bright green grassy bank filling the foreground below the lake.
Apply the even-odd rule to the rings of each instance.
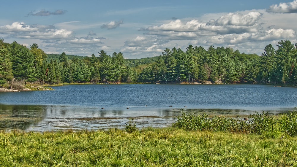
[[[297,138],[177,128],[1,132],[0,166],[297,166]]]

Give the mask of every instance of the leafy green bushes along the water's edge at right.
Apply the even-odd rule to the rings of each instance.
[[[247,120],[225,116],[209,117],[208,114],[187,114],[182,112],[173,127],[186,130],[208,130],[259,134],[263,138],[283,138],[297,134],[297,111],[270,116],[267,113],[252,114]]]

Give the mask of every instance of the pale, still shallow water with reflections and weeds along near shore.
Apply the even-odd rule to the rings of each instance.
[[[187,109],[131,107],[130,109],[101,109],[86,106],[59,105],[3,105],[0,104],[0,130],[58,131],[66,129],[124,128],[129,119],[134,119],[138,128],[166,127],[176,121],[182,111],[188,113],[224,114],[243,116],[255,111],[227,109]],[[268,111],[280,114],[287,111]],[[258,112],[259,113],[259,112]]]

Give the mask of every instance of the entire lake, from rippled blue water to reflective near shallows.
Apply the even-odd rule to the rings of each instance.
[[[278,114],[297,106],[296,88],[267,85],[120,84],[52,88],[55,90],[0,92],[0,130],[124,128],[129,118],[139,128],[165,127],[171,126],[183,109],[240,116],[262,111]]]

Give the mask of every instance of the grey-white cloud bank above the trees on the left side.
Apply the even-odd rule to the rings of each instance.
[[[96,33],[90,31],[87,36],[76,37],[73,31],[56,28],[54,25],[26,25],[23,22],[14,22],[11,25],[0,26],[0,36],[3,38],[40,40],[43,50],[50,53],[68,53],[75,55],[91,55],[96,53],[104,44],[104,37],[93,37]]]

